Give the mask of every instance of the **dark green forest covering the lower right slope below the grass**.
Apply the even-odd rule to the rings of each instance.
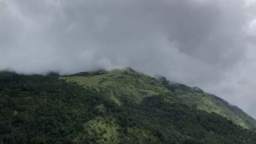
[[[255,144],[256,134],[217,115],[165,102],[165,97],[146,98],[115,113],[121,127],[140,126],[158,138],[157,144]],[[127,135],[129,137],[129,135]],[[135,144],[135,142],[130,142]],[[147,144],[148,141],[147,141]]]

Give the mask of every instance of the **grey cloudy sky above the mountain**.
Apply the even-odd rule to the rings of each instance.
[[[0,69],[126,66],[256,118],[256,0],[0,0]]]

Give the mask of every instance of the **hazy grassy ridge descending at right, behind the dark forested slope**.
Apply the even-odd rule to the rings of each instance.
[[[230,105],[224,99],[205,93],[197,87],[190,88],[183,84],[167,81],[165,77],[158,77],[158,80],[168,90],[171,90],[180,102],[186,105],[207,112],[215,112],[245,128],[256,128],[256,120],[254,118],[247,115],[247,113],[243,112],[240,108]]]

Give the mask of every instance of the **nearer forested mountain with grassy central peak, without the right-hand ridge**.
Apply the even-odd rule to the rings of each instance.
[[[131,68],[0,75],[0,144],[256,144],[254,130],[177,91]]]

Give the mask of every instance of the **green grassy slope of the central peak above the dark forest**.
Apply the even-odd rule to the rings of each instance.
[[[76,75],[80,74],[78,73]],[[76,75],[60,77],[60,79],[68,82],[77,82],[84,88],[104,91],[106,92],[106,96],[118,105],[122,105],[120,101],[122,98],[127,98],[139,103],[146,97],[171,93],[162,84],[156,81],[155,78],[136,72],[131,68],[105,71],[101,72],[99,75]]]

